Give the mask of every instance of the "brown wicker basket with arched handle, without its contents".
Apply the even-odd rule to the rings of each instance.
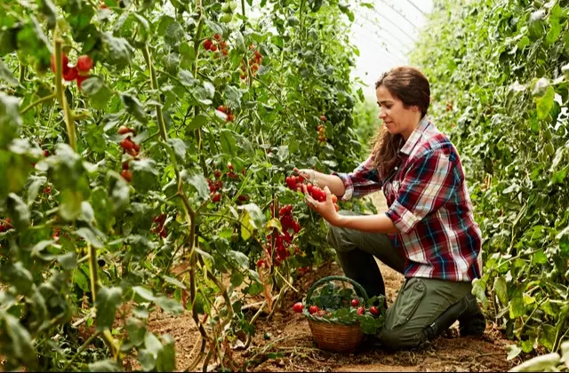
[[[312,284],[306,295],[306,305],[310,305],[310,297],[318,286],[331,281],[349,282],[356,289],[359,295],[364,298],[365,303],[369,300],[364,288],[362,288],[359,283],[349,279],[348,277],[329,276]],[[317,347],[320,349],[333,351],[335,353],[353,353],[364,340],[364,332],[360,329],[358,322],[346,325],[339,321],[318,318],[311,314],[306,314],[306,317],[309,319],[312,337],[314,337]]]

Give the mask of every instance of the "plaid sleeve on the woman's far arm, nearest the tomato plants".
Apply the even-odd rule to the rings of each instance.
[[[349,173],[333,172],[344,183],[344,195],[342,201],[349,201],[352,197],[362,197],[381,189],[381,180],[378,171],[373,167],[373,159],[370,155],[365,162]]]

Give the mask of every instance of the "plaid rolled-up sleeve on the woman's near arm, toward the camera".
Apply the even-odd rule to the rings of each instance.
[[[399,232],[408,234],[429,213],[444,206],[460,185],[453,153],[431,150],[410,165],[386,215]]]

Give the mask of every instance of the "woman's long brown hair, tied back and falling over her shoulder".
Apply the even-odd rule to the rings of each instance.
[[[403,102],[405,108],[417,106],[421,117],[427,114],[430,105],[429,80],[414,67],[395,67],[375,82],[377,90],[384,86],[391,96]],[[399,150],[405,145],[400,134],[392,135],[381,125],[372,142],[374,167],[380,171],[380,178],[386,178],[397,164]]]

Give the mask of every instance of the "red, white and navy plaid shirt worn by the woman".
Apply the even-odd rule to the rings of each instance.
[[[405,277],[470,282],[482,273],[481,232],[456,148],[423,118],[399,153],[389,177],[380,179],[372,157],[343,181],[342,200],[383,188],[386,215],[399,231],[389,234],[405,258]]]

